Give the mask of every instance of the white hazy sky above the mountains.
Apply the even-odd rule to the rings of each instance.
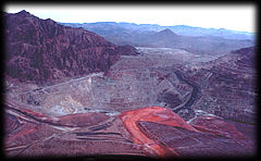
[[[256,32],[256,7],[251,4],[212,5],[98,5],[98,4],[7,4],[5,12],[26,10],[40,18],[62,23],[128,22],[163,26],[189,25],[204,28],[226,28]]]

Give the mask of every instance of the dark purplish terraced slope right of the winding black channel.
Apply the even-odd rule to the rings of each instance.
[[[195,108],[226,119],[254,123],[257,113],[254,58],[253,47],[244,48],[200,66],[200,70],[189,78],[197,82],[202,91]]]

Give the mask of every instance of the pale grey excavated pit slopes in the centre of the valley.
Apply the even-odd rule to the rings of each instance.
[[[162,55],[165,59],[173,54],[176,58],[177,53],[185,54],[186,59],[191,58],[181,50],[162,52],[167,52]],[[153,62],[159,60],[159,54],[161,52],[124,55],[105,74],[94,73],[51,86],[34,87],[33,90],[17,91],[11,88],[10,91],[13,90],[15,99],[21,102],[54,116],[89,110],[123,112],[147,106],[163,106],[172,110],[179,109],[177,114],[187,121],[194,116],[190,106],[194,104],[191,97],[195,89],[176,75],[175,66],[167,67],[165,62]],[[179,59],[170,60],[169,65],[179,62]],[[184,106],[186,108],[182,108]]]

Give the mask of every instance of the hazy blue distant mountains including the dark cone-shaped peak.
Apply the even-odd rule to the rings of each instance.
[[[227,54],[254,45],[253,34],[228,29],[115,22],[61,24],[94,32],[116,45],[177,48],[197,54]]]

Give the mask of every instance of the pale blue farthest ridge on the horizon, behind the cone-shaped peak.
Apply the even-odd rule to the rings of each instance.
[[[158,24],[135,24],[135,23],[115,23],[115,22],[97,22],[97,23],[61,23],[64,25],[70,25],[73,27],[84,27],[88,30],[92,32],[101,32],[108,30],[112,28],[117,28],[119,30],[136,30],[136,32],[160,32],[163,29],[171,29],[172,32],[176,33],[177,35],[182,36],[217,36],[223,37],[226,39],[254,39],[254,34],[249,32],[238,32],[238,30],[231,30],[225,28],[202,28],[202,27],[194,27],[187,25],[175,25],[175,26],[160,26]],[[102,27],[104,27],[102,29]]]

